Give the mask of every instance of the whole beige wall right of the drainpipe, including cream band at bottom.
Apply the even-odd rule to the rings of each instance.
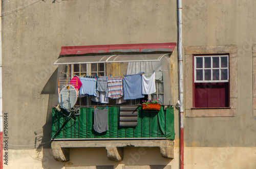
[[[234,58],[231,60],[237,62],[237,74],[230,73],[230,80],[233,79],[232,76],[238,78],[238,100],[234,104],[237,110],[234,117],[206,116],[184,119],[185,168],[256,167],[256,163],[252,162],[256,160],[256,118],[253,116],[252,107],[252,46],[256,41],[255,7],[254,1],[183,2],[184,47],[235,45],[237,54],[232,55]],[[188,67],[185,67],[185,71]],[[187,83],[192,81],[185,79],[185,84]],[[192,92],[191,88],[185,90]],[[188,100],[187,96],[185,95],[185,102]],[[231,99],[230,97],[230,101]],[[210,111],[205,110],[206,114],[210,114]]]

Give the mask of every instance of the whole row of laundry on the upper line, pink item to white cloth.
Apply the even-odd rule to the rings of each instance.
[[[68,79],[67,81],[59,79],[58,86],[68,82],[66,84],[67,88],[69,88],[69,85],[72,85],[77,91],[76,97],[86,97],[89,95],[92,96],[92,101],[100,103],[109,103],[109,98],[111,98],[116,99],[116,104],[121,104],[126,102],[126,100],[144,98],[144,95],[155,93],[155,73],[154,71],[150,77],[146,77],[144,73],[122,75],[119,77],[103,76],[103,78],[74,76],[71,80]],[[58,88],[58,94],[60,94],[60,88]]]

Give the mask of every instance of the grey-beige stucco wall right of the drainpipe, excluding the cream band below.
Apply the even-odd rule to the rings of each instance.
[[[188,18],[183,25],[184,46],[236,45],[238,48],[236,116],[185,118],[186,146],[255,146],[256,118],[252,111],[252,44],[256,42],[254,7],[256,3],[253,1],[225,1],[225,5],[221,1],[184,2],[183,16]],[[185,79],[185,83],[192,82]],[[185,90],[192,91],[191,88]]]

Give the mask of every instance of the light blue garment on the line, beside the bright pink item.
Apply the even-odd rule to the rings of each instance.
[[[82,86],[80,88],[80,95],[94,95],[96,96],[96,79],[95,78],[87,78],[81,77],[80,81],[82,82]]]

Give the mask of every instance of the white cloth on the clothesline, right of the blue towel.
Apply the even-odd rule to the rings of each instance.
[[[156,74],[142,74],[142,94],[149,95],[156,92]]]

